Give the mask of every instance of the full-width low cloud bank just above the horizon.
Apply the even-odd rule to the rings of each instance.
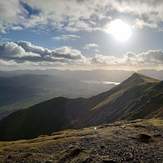
[[[123,57],[103,54],[86,57],[68,46],[48,49],[26,41],[6,42],[0,45],[0,64],[0,68],[19,69],[163,69],[163,51],[128,52]]]

